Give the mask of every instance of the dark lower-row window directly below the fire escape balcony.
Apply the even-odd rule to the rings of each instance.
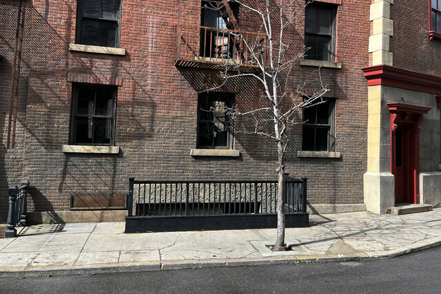
[[[198,148],[232,149],[233,122],[229,109],[233,94],[200,94],[198,97]]]

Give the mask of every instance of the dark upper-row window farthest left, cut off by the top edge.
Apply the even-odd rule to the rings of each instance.
[[[121,0],[79,0],[76,43],[119,47]]]

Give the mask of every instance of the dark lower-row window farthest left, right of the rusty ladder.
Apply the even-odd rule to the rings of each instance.
[[[112,145],[116,87],[74,85],[70,143]]]

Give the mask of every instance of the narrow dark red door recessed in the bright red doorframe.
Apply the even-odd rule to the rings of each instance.
[[[395,136],[395,202],[405,202],[406,197],[406,132],[396,131]]]

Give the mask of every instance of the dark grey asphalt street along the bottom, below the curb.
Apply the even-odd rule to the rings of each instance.
[[[441,293],[441,247],[368,262],[1,278],[0,283],[1,293]]]

